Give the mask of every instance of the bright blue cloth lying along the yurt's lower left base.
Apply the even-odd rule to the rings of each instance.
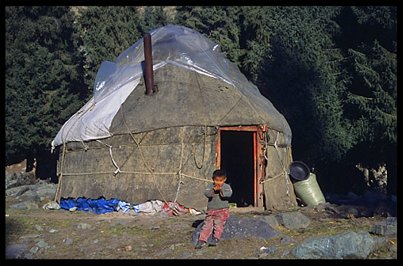
[[[68,199],[62,198],[60,200],[60,208],[70,209],[77,207],[78,211],[92,211],[95,214],[105,214],[111,211],[118,211],[119,200],[105,200],[104,197],[100,197],[98,200],[86,199],[80,197],[78,199],[73,199],[69,197]]]

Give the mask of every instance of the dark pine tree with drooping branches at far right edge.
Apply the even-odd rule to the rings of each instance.
[[[344,108],[358,138],[346,160],[367,169],[386,166],[388,193],[396,193],[397,8],[345,7],[336,20],[351,75]]]

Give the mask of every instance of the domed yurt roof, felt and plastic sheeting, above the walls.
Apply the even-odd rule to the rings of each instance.
[[[115,62],[101,64],[94,97],[62,126],[52,146],[111,137],[120,133],[123,123],[130,132],[262,124],[283,132],[290,146],[291,130],[283,115],[229,62],[220,45],[195,30],[174,25],[150,34],[158,92],[145,94],[141,38]]]

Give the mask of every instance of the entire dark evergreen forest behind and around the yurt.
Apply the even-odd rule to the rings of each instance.
[[[6,165],[55,159],[101,62],[164,25],[220,44],[323,190],[396,194],[397,6],[6,6]]]

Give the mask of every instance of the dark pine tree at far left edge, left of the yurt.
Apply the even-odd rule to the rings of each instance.
[[[6,7],[6,163],[36,156],[85,95],[68,7]]]

